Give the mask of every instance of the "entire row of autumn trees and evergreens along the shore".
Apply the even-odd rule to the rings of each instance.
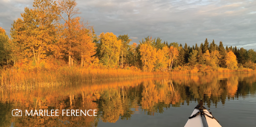
[[[190,47],[187,43],[168,44],[159,37],[148,36],[139,44],[130,44],[128,34],[97,36],[88,22],[76,16],[81,13],[76,5],[75,0],[34,0],[32,8],[25,7],[22,18],[12,23],[11,38],[0,28],[1,67],[67,62],[69,67],[128,67],[148,72],[196,65],[256,68],[253,49],[224,48],[222,42],[209,43],[207,38],[200,46]]]

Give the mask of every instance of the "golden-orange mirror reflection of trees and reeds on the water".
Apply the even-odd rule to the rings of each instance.
[[[208,108],[227,100],[256,95],[256,74],[171,76],[132,81],[77,84],[31,91],[1,91],[1,127],[85,126],[99,121],[131,120],[136,112],[164,113],[170,107],[202,99]],[[97,109],[97,116],[12,116],[12,109]]]

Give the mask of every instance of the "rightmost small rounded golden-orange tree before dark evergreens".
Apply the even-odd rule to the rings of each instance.
[[[229,51],[225,57],[225,62],[226,66],[230,69],[237,68],[237,57],[236,55],[232,52]]]

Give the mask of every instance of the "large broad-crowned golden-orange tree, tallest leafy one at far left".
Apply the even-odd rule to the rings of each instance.
[[[25,7],[21,18],[14,21],[11,28],[12,51],[24,57],[34,56],[38,64],[49,51],[49,45],[56,39],[58,20],[56,2],[35,0],[32,9]]]

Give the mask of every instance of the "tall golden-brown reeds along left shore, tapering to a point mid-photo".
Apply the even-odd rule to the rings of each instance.
[[[25,90],[38,87],[72,85],[79,82],[95,82],[116,79],[137,79],[142,77],[164,76],[169,73],[141,72],[125,69],[91,69],[62,67],[55,70],[0,70],[1,90]]]

